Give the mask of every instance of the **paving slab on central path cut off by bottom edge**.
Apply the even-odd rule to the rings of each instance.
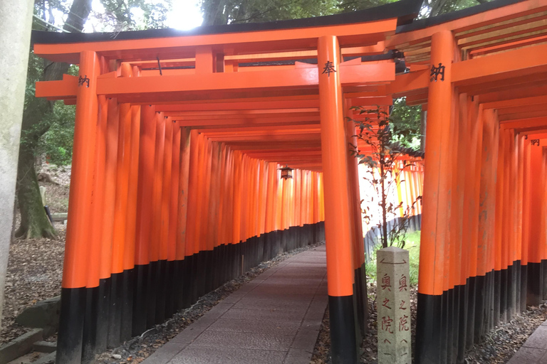
[[[183,350],[170,364],[281,364],[283,351],[251,350],[241,348],[189,347]]]

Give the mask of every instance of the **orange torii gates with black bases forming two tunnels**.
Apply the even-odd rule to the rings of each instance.
[[[463,363],[496,323],[541,302],[547,1],[412,21],[420,3],[189,32],[33,33],[36,55],[80,65],[36,84],[37,97],[76,105],[57,363],[88,362],[323,235],[333,363],[357,363],[367,295],[344,118],[394,97],[427,109],[415,362]]]

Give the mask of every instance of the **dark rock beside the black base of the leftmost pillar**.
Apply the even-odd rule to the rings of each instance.
[[[15,319],[21,326],[43,328],[45,337],[56,333],[59,326],[59,313],[61,311],[61,296],[39,301],[34,306],[24,309]]]

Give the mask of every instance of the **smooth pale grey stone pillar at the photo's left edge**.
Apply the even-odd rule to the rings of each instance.
[[[4,284],[14,218],[32,11],[33,1],[30,0],[6,0],[0,6],[0,34],[18,35],[0,37],[0,205],[3,209],[0,220],[0,312],[4,306]]]

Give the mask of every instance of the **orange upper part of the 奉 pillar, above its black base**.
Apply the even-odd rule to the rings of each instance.
[[[338,39],[323,36],[318,40],[318,70],[330,62],[340,64]],[[325,240],[329,296],[353,294],[353,252],[348,193],[348,168],[343,124],[342,86],[338,72],[319,77],[321,102],[321,146],[325,171]]]

